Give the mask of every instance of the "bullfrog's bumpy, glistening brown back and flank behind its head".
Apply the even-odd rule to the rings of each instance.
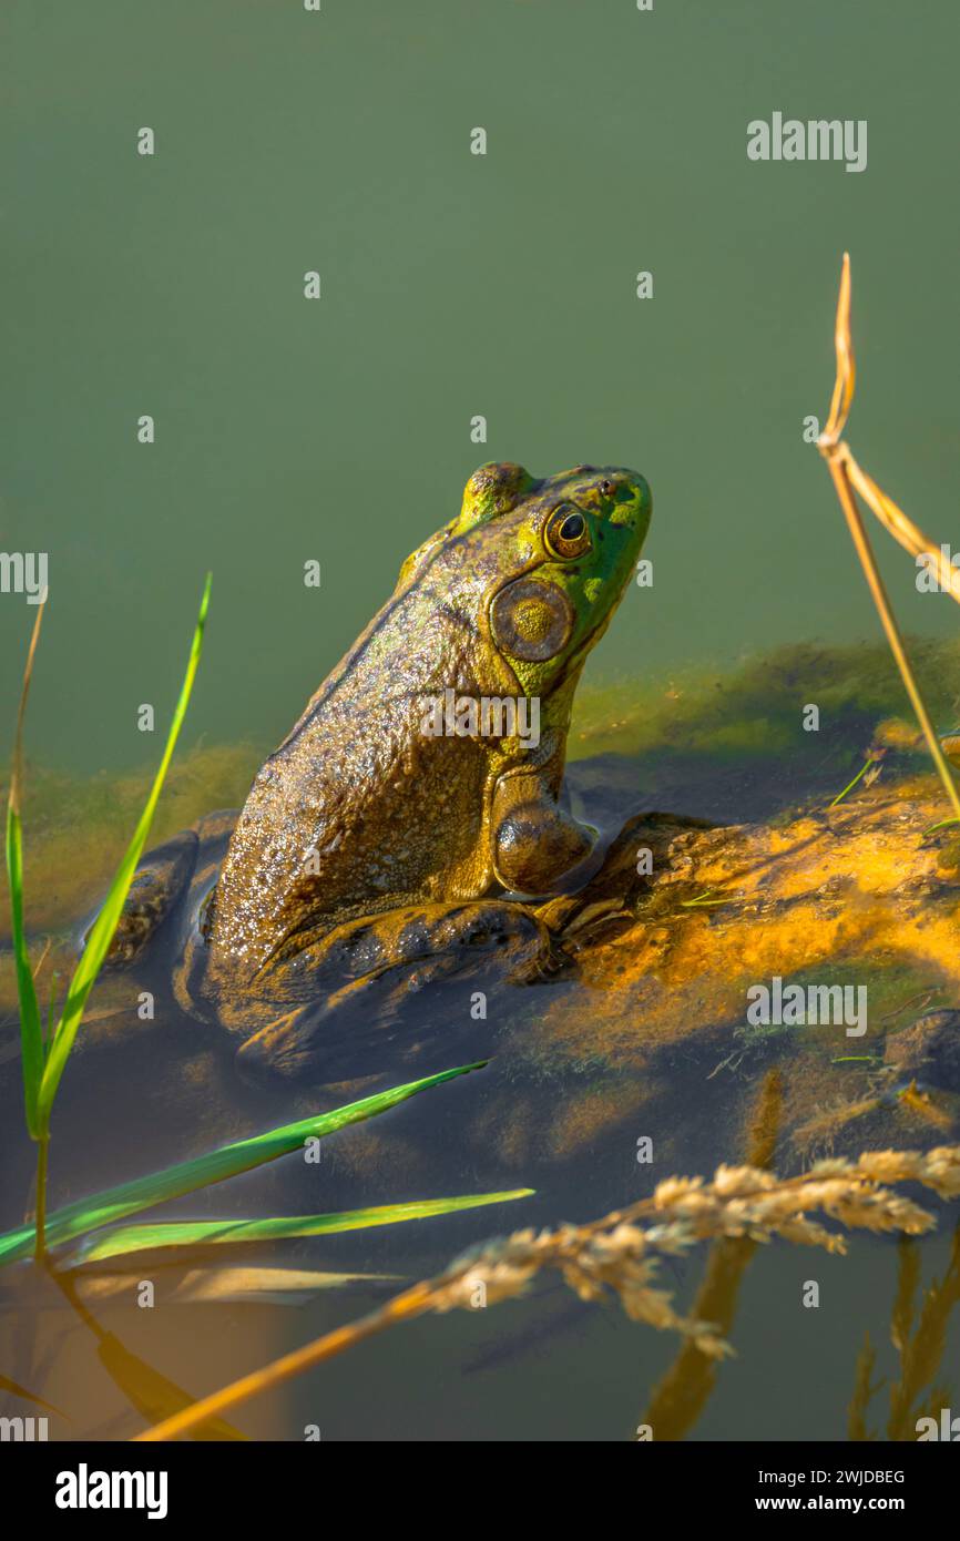
[[[448,595],[398,589],[263,763],[217,885],[220,955],[254,972],[325,917],[490,885],[478,840],[490,755],[422,724],[448,687],[490,693],[515,681],[478,678]]]

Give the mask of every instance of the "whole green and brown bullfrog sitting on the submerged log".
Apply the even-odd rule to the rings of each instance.
[[[630,470],[481,467],[236,823],[211,815],[145,858],[114,957],[162,926],[185,1009],[234,1031],[242,1065],[316,1077],[350,1006],[365,1031],[493,957],[538,977],[532,901],[590,877],[596,838],[562,798],[573,692],[649,521]]]

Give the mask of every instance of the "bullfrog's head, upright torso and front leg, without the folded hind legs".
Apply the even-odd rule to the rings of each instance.
[[[387,938],[402,906],[431,906],[439,925],[465,901],[556,892],[584,868],[595,831],[561,804],[573,692],[650,507],[643,476],[619,467],[538,481],[499,464],[470,478],[459,515],[404,562],[262,766],[206,909],[208,994],[276,986],[291,968],[316,975],[334,932],[353,938],[361,972],[371,948],[404,951],[404,935]],[[430,735],[424,720],[448,692],[536,698],[536,743],[516,724]]]

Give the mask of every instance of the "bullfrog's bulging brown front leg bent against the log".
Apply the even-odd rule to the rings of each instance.
[[[561,807],[558,781],[541,770],[512,770],[493,789],[493,871],[518,894],[555,894],[590,875],[596,831]]]

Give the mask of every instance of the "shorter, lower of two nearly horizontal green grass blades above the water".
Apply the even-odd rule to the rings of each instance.
[[[339,1231],[364,1231],[376,1225],[399,1225],[404,1220],[425,1220],[436,1214],[459,1214],[487,1204],[529,1199],[533,1188],[512,1188],[507,1193],[470,1193],[456,1199],[413,1199],[408,1204],[379,1204],[370,1210],[342,1210],[339,1214],[280,1214],[257,1220],[160,1220],[156,1225],[119,1225],[82,1242],[71,1256],[71,1267],[82,1262],[105,1262],[136,1251],[160,1247],[239,1245],[240,1242],[290,1241],[296,1236],[334,1236]]]

